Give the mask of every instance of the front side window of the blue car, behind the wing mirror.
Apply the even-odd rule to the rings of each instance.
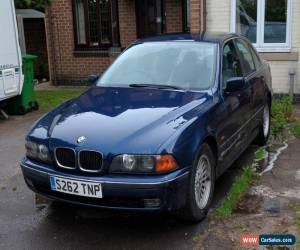
[[[222,55],[222,81],[223,86],[225,86],[228,79],[232,77],[242,77],[243,72],[238,54],[232,40],[225,43]]]

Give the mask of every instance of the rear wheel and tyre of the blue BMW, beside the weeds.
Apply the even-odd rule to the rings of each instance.
[[[262,114],[262,124],[259,127],[259,133],[254,141],[258,146],[264,146],[267,144],[270,137],[271,128],[271,105],[267,102],[264,106]]]

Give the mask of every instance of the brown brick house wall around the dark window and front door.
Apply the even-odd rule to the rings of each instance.
[[[183,30],[182,1],[165,1],[165,31],[181,32]],[[201,0],[191,0],[193,1]],[[197,16],[195,12],[192,13]],[[124,48],[137,39],[134,0],[118,0],[118,18],[120,43]],[[116,53],[101,55],[101,53],[74,52],[72,0],[54,0],[46,10],[45,22],[50,78],[54,85],[86,83],[88,75],[101,74],[118,55]],[[194,26],[191,25],[191,27]]]

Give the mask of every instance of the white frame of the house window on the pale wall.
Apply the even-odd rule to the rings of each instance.
[[[236,32],[236,6],[237,0],[231,0],[231,21],[230,31]],[[256,43],[252,43],[258,52],[290,52],[292,40],[292,0],[287,0],[286,20],[286,42],[285,43],[264,43],[266,0],[257,0],[257,35]]]

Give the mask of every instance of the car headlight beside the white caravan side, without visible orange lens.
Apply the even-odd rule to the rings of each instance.
[[[26,141],[25,148],[26,156],[28,158],[45,163],[52,163],[52,159],[47,146],[32,141]]]

